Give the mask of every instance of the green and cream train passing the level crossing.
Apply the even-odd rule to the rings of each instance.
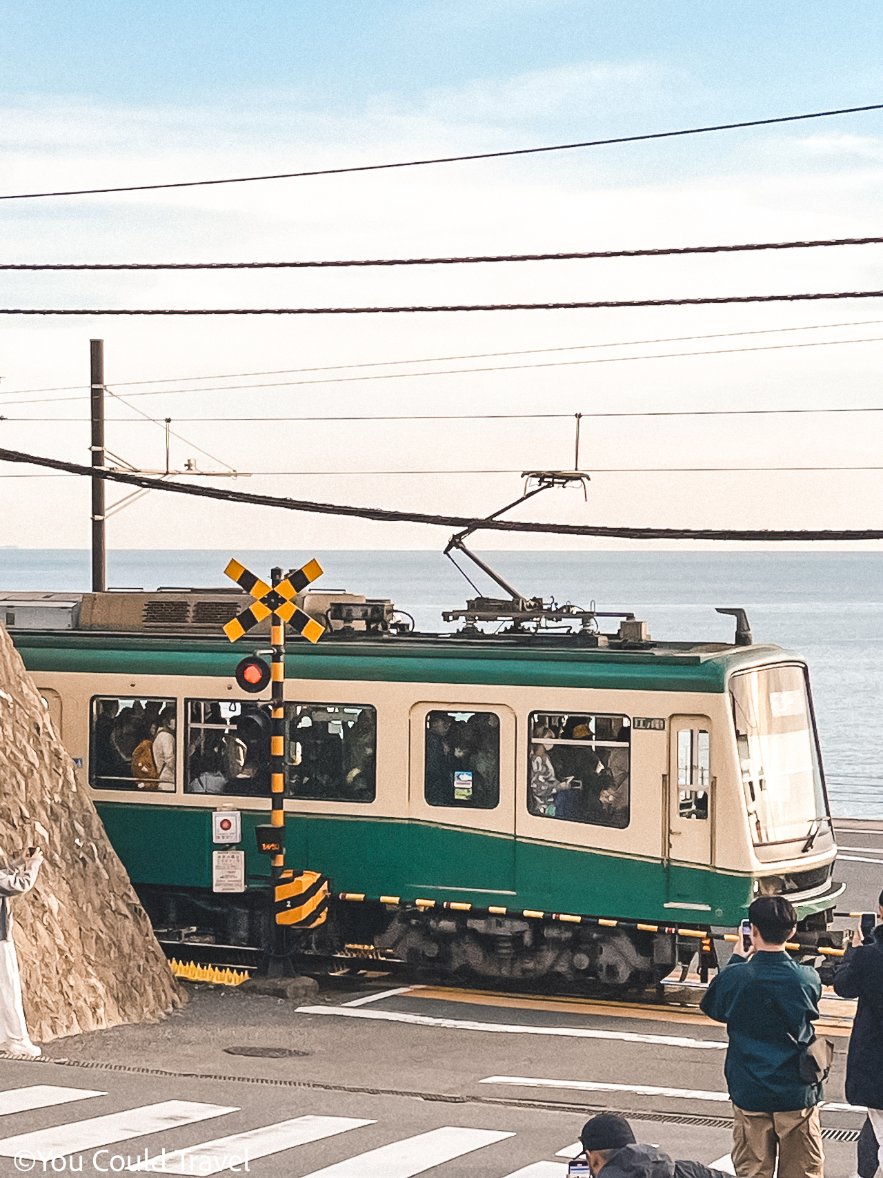
[[[6,594],[0,622],[154,925],[259,947],[270,691],[234,669],[267,640],[220,631],[246,600]],[[825,935],[843,885],[806,667],[744,615],[724,644],[653,642],[631,615],[608,635],[585,615],[432,635],[389,602],[299,602],[328,627],[291,642],[285,683],[286,863],[333,889],[316,952],[658,981],[683,959],[676,926],[732,927],[776,893],[803,940]],[[218,878],[218,812],[241,826],[238,884]]]

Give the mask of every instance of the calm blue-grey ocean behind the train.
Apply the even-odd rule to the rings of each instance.
[[[391,597],[419,629],[450,629],[442,610],[474,591],[440,552],[237,551],[259,575],[317,556],[320,584]],[[883,552],[483,552],[525,596],[632,610],[655,638],[730,641],[716,605],[742,605],[755,640],[810,667],[831,809],[883,819]],[[155,589],[225,583],[219,550],[108,552],[108,584]],[[0,590],[89,588],[81,549],[0,548]],[[476,570],[483,593],[497,590]],[[470,571],[472,576],[472,571]]]

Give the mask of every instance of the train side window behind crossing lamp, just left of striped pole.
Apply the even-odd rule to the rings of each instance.
[[[270,706],[187,700],[184,792],[270,796]]]

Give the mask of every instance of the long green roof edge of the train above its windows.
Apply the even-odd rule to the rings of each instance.
[[[1,616],[1,615],[0,615]],[[31,671],[181,675],[232,679],[239,660],[266,638],[114,634],[11,628]],[[590,647],[580,635],[328,635],[290,644],[287,675],[300,680],[474,683],[524,687],[724,691],[749,667],[801,662],[777,646],[645,642]]]

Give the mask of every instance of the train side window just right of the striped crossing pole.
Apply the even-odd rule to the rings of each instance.
[[[377,709],[363,703],[286,703],[287,798],[372,802]]]

